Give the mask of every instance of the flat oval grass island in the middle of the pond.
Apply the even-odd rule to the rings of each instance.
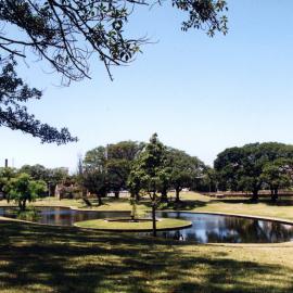
[[[77,227],[91,228],[91,229],[102,229],[102,230],[150,230],[152,231],[152,220],[149,221],[107,221],[104,219],[92,219],[78,221],[75,224]],[[179,229],[189,227],[191,221],[171,218],[162,218],[156,221],[157,230],[166,229]]]

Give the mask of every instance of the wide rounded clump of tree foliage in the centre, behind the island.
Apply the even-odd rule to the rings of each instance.
[[[207,167],[198,157],[183,151],[168,148],[161,142],[157,145],[152,144],[156,140],[154,136],[149,143],[122,141],[88,151],[82,168],[79,167],[82,186],[95,194],[100,202],[109,192],[118,198],[122,190],[129,190],[137,200],[140,200],[141,192],[149,195],[161,193],[160,201],[167,202],[167,193],[173,189],[176,191],[176,201],[179,201],[179,193],[183,188],[192,188],[195,182],[204,181]],[[158,149],[162,152],[162,162],[154,160],[154,153]],[[156,165],[160,167],[154,167]],[[145,166],[149,166],[148,169]],[[203,182],[202,186],[206,184]]]

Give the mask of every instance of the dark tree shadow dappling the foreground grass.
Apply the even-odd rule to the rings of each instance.
[[[293,271],[163,239],[0,222],[0,291],[292,292]],[[193,250],[193,249],[192,249]],[[252,282],[253,278],[253,282]],[[269,281],[264,283],[264,278]],[[282,283],[275,281],[283,278]],[[290,279],[290,278],[289,278]]]

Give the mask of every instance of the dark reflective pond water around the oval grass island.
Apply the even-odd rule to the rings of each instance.
[[[38,207],[38,222],[64,226],[88,219],[129,216],[129,212],[74,211],[66,207]],[[186,212],[157,212],[156,215],[158,218],[179,218],[192,222],[191,228],[157,233],[167,239],[196,243],[275,243],[293,240],[293,226],[278,221]],[[0,207],[0,216],[12,217],[11,208]]]

